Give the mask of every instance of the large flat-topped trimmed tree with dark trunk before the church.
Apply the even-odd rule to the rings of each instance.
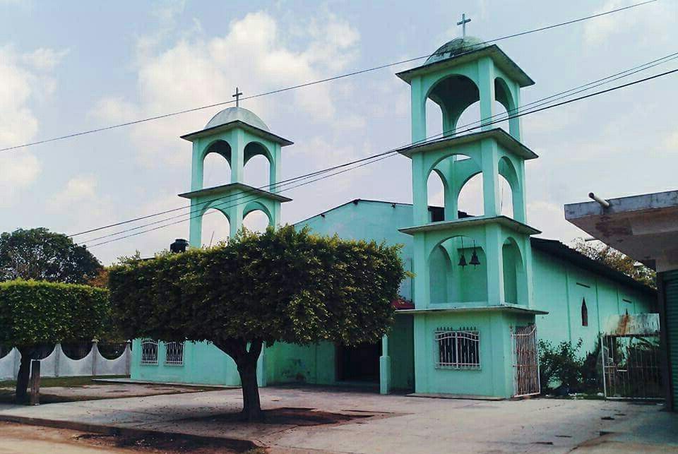
[[[208,341],[237,364],[243,416],[263,417],[256,362],[265,345],[377,342],[393,323],[405,272],[399,246],[320,237],[286,226],[227,244],[110,270],[129,337]]]

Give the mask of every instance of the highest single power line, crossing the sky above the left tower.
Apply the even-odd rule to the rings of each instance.
[[[476,47],[476,46],[482,45],[482,44],[487,44],[489,42],[497,42],[497,41],[501,41],[501,40],[507,40],[509,38],[528,35],[530,33],[541,32],[541,31],[544,31],[544,30],[550,30],[552,28],[557,28],[557,27],[561,27],[561,26],[564,26],[564,25],[571,25],[573,23],[582,22],[583,20],[590,20],[590,19],[593,19],[593,18],[598,18],[600,16],[607,16],[608,14],[617,13],[619,11],[624,11],[624,10],[631,9],[631,8],[636,8],[637,6],[643,6],[643,5],[646,5],[646,4],[654,3],[655,1],[657,1],[657,0],[642,1],[641,3],[632,4],[632,5],[629,5],[629,6],[624,6],[622,8],[616,8],[616,9],[612,9],[612,10],[609,10],[609,11],[604,11],[602,13],[593,14],[591,16],[585,16],[583,18],[567,20],[566,22],[556,23],[556,24],[547,25],[547,26],[541,27],[541,28],[535,28],[533,30],[526,30],[524,32],[514,33],[513,35],[501,36],[501,37],[494,38],[493,40],[487,40],[487,41],[483,41],[483,42],[480,42],[480,43],[477,43],[477,44],[473,44],[472,46],[462,47],[462,49],[464,49],[464,50],[465,49],[472,49],[472,47]],[[444,54],[445,52],[443,51],[443,52],[440,52],[440,53]],[[310,82],[300,83],[298,85],[292,85],[292,86],[286,87],[286,88],[278,88],[277,90],[270,90],[268,92],[261,92],[261,93],[258,93],[256,95],[243,97],[242,100],[251,100],[251,99],[254,99],[256,97],[275,95],[275,94],[287,92],[287,91],[290,91],[290,90],[297,90],[298,88],[305,88],[305,87],[309,87],[311,85],[317,85],[319,83],[331,82],[332,80],[338,80],[338,79],[342,79],[342,78],[357,76],[359,74],[369,73],[371,71],[378,71],[379,69],[389,68],[391,66],[397,66],[397,65],[400,65],[400,64],[411,63],[412,61],[417,61],[417,60],[421,60],[421,59],[427,59],[427,58],[429,58],[429,56],[432,56],[432,55],[435,55],[435,54],[436,53],[434,52],[434,54],[417,56],[417,57],[414,57],[414,58],[411,58],[411,59],[396,61],[396,62],[393,62],[393,63],[383,64],[383,65],[380,65],[380,66],[374,66],[372,68],[361,69],[359,71],[353,71],[351,73],[344,73],[344,74],[340,74],[338,76],[333,76],[333,77],[324,78],[324,79],[320,79],[320,80],[312,80]],[[124,126],[132,126],[134,124],[145,123],[146,121],[164,119],[164,118],[167,118],[167,117],[174,117],[174,116],[177,116],[177,115],[188,114],[190,112],[197,112],[197,111],[203,110],[203,109],[210,109],[211,107],[219,107],[219,106],[223,106],[223,105],[226,105],[226,104],[233,104],[234,102],[235,101],[233,101],[233,100],[224,101],[224,102],[215,102],[214,104],[208,104],[208,105],[204,105],[204,106],[201,106],[201,107],[194,107],[194,108],[191,108],[191,109],[179,110],[177,112],[171,112],[169,114],[160,114],[160,115],[155,115],[153,117],[146,117],[146,118],[143,118],[143,119],[126,121],[124,123],[114,124],[114,125],[110,125],[110,126],[104,126],[102,128],[90,129],[90,130],[87,130],[87,131],[80,131],[80,132],[77,132],[77,133],[66,134],[64,136],[47,138],[47,139],[43,139],[42,141],[23,143],[21,145],[13,145],[11,147],[0,148],[0,152],[17,150],[19,148],[25,148],[25,147],[29,147],[29,146],[32,146],[32,145],[41,145],[43,143],[49,143],[49,142],[54,142],[54,141],[62,141],[62,140],[68,139],[68,138],[85,136],[85,135],[88,135],[88,134],[99,133],[99,132],[102,132],[102,131],[109,131],[110,129],[118,129],[118,128],[122,128]]]

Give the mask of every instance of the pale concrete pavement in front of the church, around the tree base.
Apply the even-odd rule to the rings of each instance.
[[[369,414],[341,424],[244,424],[219,416],[238,412],[240,390],[2,407],[0,419],[39,418],[54,424],[101,424],[255,441],[272,452],[320,450],[348,453],[548,452],[567,453],[600,434],[648,432],[665,452],[678,446],[675,419],[658,405],[600,400],[532,399],[487,402],[410,398],[321,388],[263,388],[265,409],[305,407]],[[662,421],[655,424],[655,421]],[[68,427],[68,426],[66,426]],[[73,427],[73,426],[70,426]],[[638,443],[649,443],[648,439]],[[600,443],[599,443],[600,444]],[[602,445],[600,445],[602,446]],[[595,448],[595,446],[582,446]],[[600,452],[600,451],[590,451]],[[677,449],[678,452],[678,449]]]

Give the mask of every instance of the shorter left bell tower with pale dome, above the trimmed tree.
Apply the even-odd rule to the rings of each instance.
[[[236,90],[234,96],[239,95],[242,93]],[[280,224],[280,204],[292,200],[277,193],[280,150],[292,142],[271,133],[256,114],[239,105],[222,110],[201,131],[182,138],[193,143],[191,191],[179,194],[191,201],[191,246],[202,246],[203,214],[210,208],[228,218],[230,236],[242,227],[244,217],[256,210],[266,214],[269,226]],[[203,187],[203,161],[209,153],[225,157],[231,167],[230,184]],[[270,182],[266,188],[254,188],[244,183],[244,167],[256,155],[266,157],[270,166]]]

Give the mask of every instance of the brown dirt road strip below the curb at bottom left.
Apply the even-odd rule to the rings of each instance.
[[[233,454],[242,452],[218,443],[189,438],[110,436],[0,422],[1,454]],[[256,449],[245,452],[264,454],[266,450]]]

